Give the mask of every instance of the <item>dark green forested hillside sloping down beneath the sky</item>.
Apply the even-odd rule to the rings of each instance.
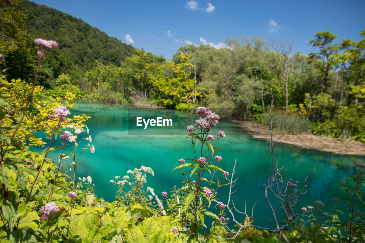
[[[12,78],[31,78],[30,70],[24,70],[20,66],[25,64],[35,70],[31,57],[37,50],[32,43],[35,38],[53,39],[58,43],[57,51],[47,56],[46,68],[49,70],[43,72],[44,77],[40,81],[49,88],[52,86],[50,80],[62,73],[68,73],[73,79],[78,78],[96,66],[95,60],[106,65],[120,65],[126,57],[135,54],[131,45],[122,43],[67,13],[28,0],[13,2],[14,5],[8,11],[12,11],[11,16],[17,23],[11,24],[22,30],[23,34],[18,32],[18,39],[26,45],[24,43],[22,49],[7,57],[8,64],[12,67],[8,73]]]

